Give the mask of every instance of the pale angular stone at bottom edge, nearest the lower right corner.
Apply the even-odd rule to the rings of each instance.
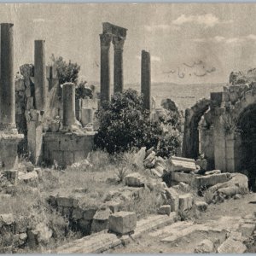
[[[241,242],[232,238],[225,240],[217,249],[218,253],[245,253],[247,247]]]

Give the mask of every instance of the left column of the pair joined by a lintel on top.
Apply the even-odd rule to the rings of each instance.
[[[110,67],[109,67],[109,48],[112,35],[103,33],[101,38],[101,103],[110,101]]]

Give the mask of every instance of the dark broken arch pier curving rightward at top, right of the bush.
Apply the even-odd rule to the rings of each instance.
[[[197,158],[199,154],[198,125],[201,117],[210,106],[210,99],[201,99],[192,108],[185,111],[183,134],[183,157]]]

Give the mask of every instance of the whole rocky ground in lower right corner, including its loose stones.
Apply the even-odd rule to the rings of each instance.
[[[255,253],[256,194],[210,205],[195,219],[153,230],[108,253]]]

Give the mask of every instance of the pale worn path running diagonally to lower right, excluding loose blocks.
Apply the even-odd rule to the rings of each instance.
[[[247,229],[256,212],[256,194],[248,194],[239,200],[230,199],[224,203],[210,205],[201,218],[177,222],[160,230],[143,235],[137,241],[116,247],[108,253],[195,253],[195,247],[204,239],[209,239],[217,250],[230,232],[240,232],[241,226]],[[255,226],[255,220],[253,224]],[[245,233],[247,231],[244,231]],[[235,242],[235,246],[240,243]],[[241,247],[242,242],[240,243]],[[247,248],[247,252],[255,253],[255,242]]]

